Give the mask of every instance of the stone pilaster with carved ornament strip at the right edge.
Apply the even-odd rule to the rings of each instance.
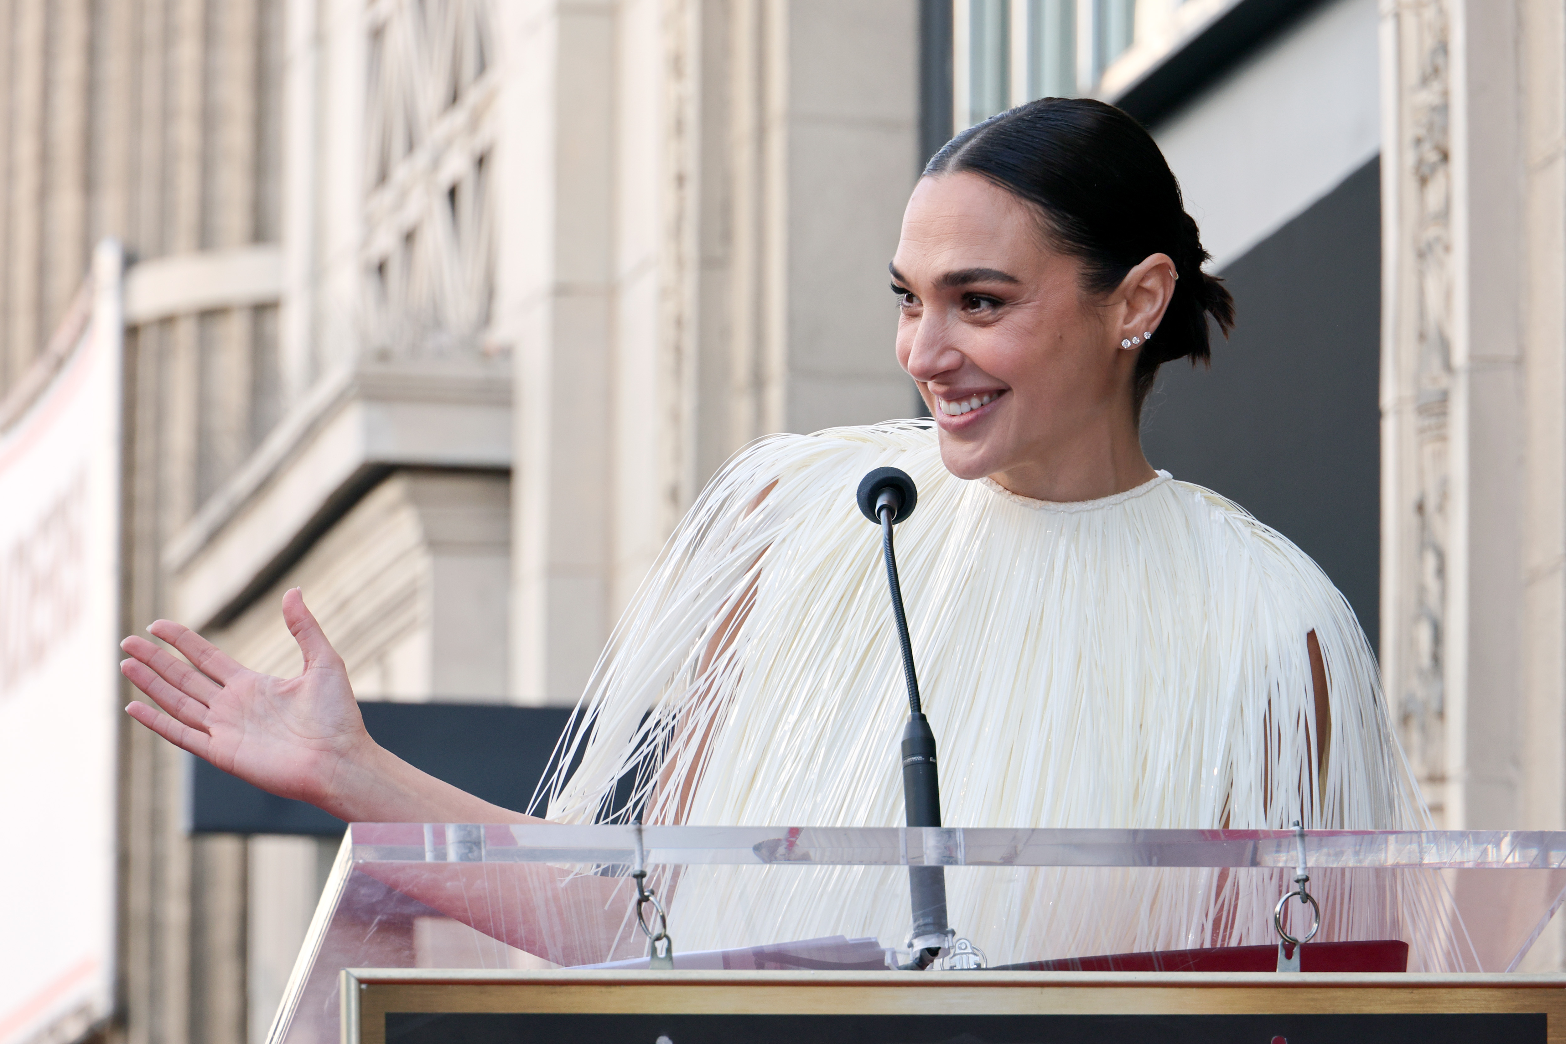
[[[1383,5],[1383,673],[1453,830],[1566,826],[1563,85],[1557,3]]]

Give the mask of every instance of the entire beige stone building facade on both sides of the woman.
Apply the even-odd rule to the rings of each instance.
[[[125,626],[291,671],[298,584],[366,700],[562,706],[730,452],[918,409],[885,263],[954,125],[1128,105],[1236,285],[1380,157],[1356,609],[1439,822],[1566,828],[1563,13],[1295,8],[0,0],[0,396],[117,238]],[[260,1039],[335,847],[193,833],[189,772],[124,723],[105,1038]]]

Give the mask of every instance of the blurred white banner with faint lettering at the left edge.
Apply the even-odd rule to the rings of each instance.
[[[113,1005],[121,268],[0,410],[0,1044]]]

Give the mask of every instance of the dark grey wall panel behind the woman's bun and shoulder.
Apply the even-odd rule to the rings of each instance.
[[[1381,182],[1372,160],[1221,275],[1239,322],[1212,369],[1171,363],[1142,415],[1156,468],[1294,540],[1378,640]]]

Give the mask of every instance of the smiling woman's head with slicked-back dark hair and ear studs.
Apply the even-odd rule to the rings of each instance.
[[[1054,501],[1153,477],[1137,416],[1157,368],[1209,360],[1209,315],[1234,324],[1206,260],[1168,164],[1120,110],[1051,99],[941,149],[891,272],[897,358],[947,468]]]

